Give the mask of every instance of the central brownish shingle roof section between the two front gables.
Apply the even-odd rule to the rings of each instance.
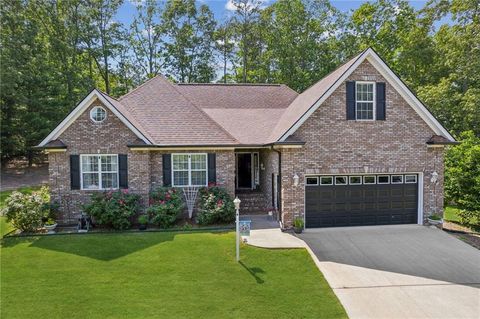
[[[297,95],[278,84],[173,84],[157,76],[109,101],[154,144],[238,145],[266,143]]]

